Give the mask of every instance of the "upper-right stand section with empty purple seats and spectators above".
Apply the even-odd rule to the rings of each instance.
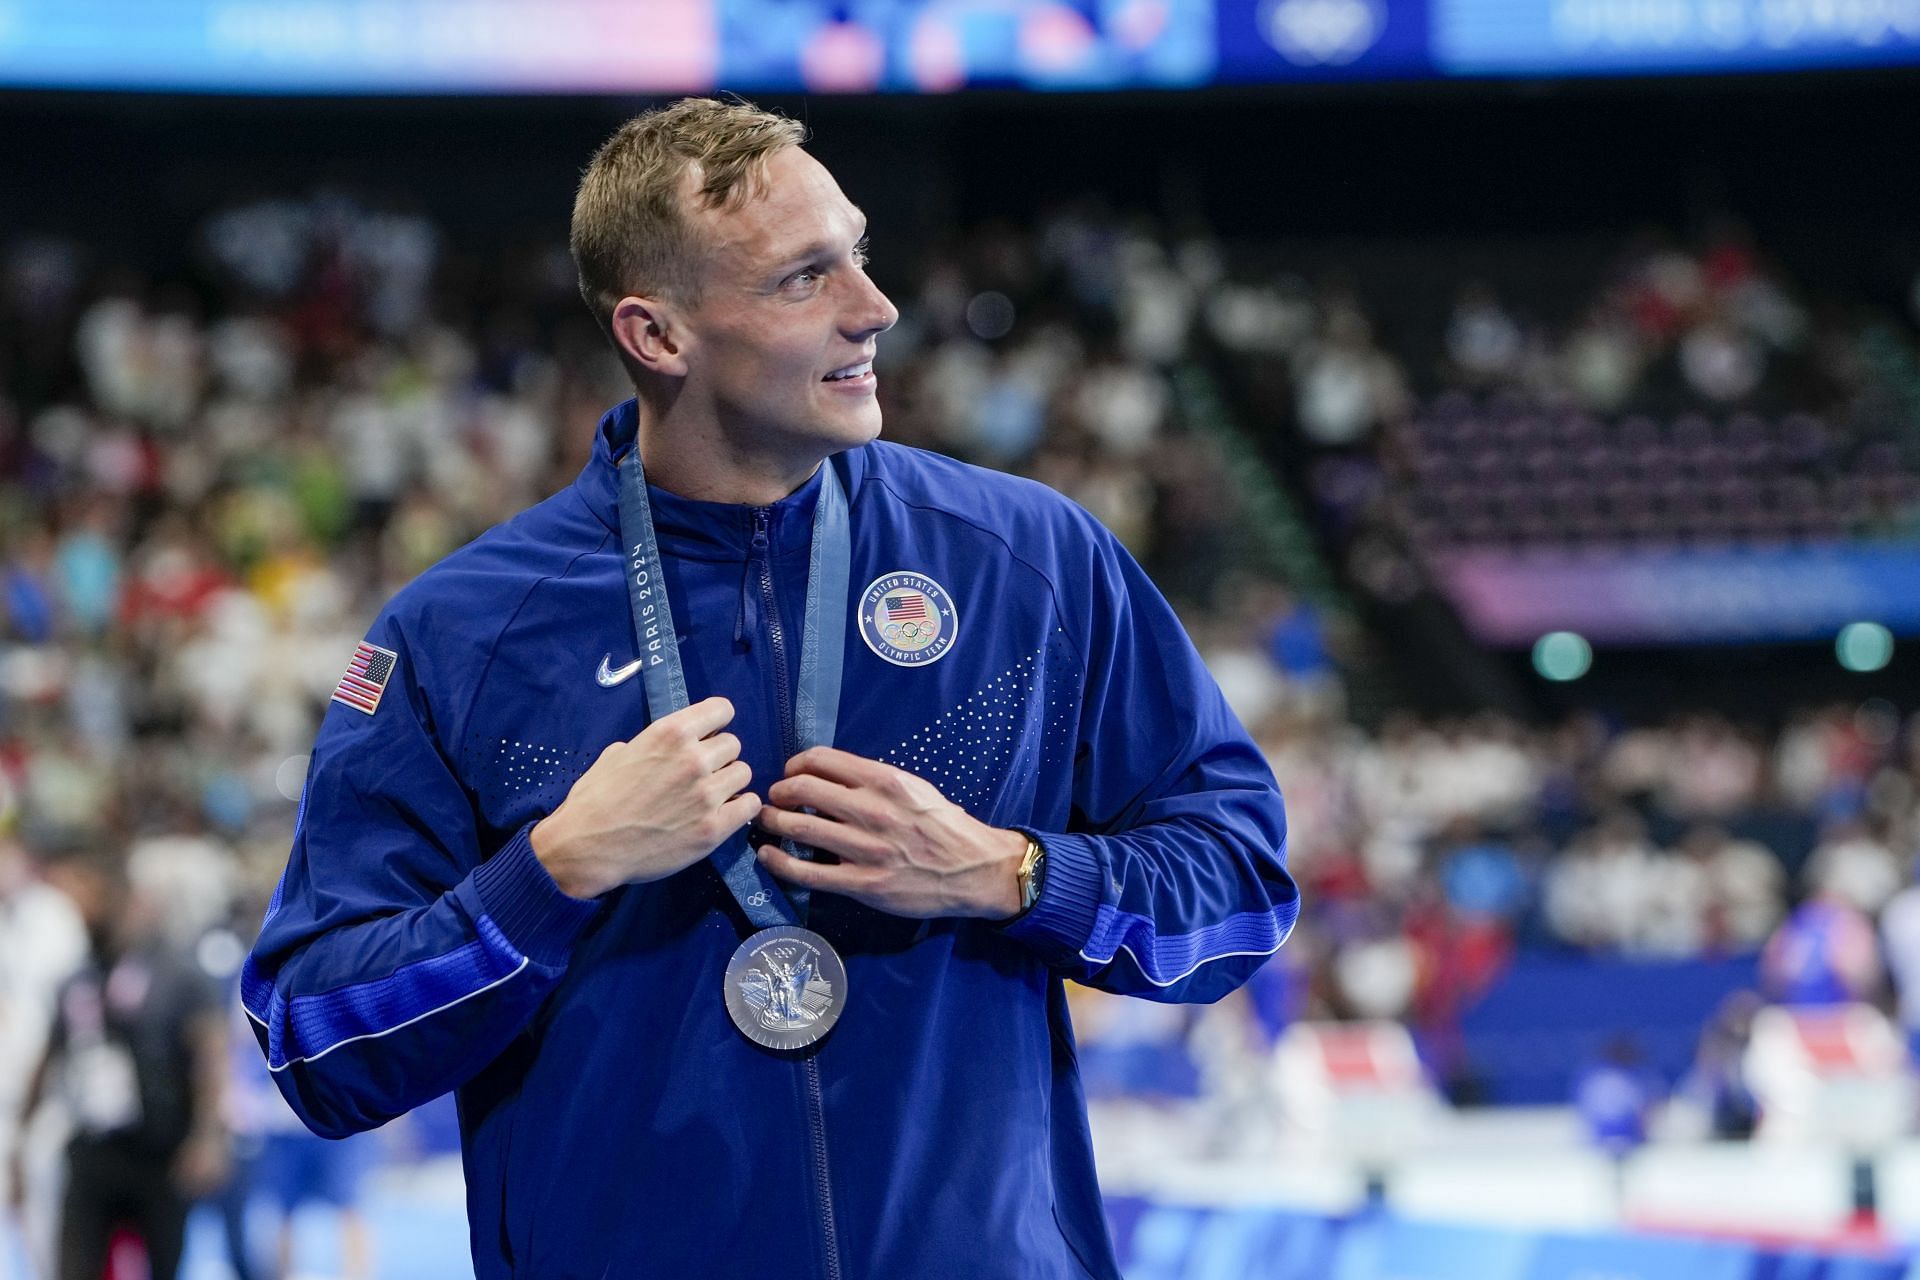
[[[1405,603],[1463,545],[1914,533],[1912,263],[1814,288],[1732,221],[1565,259],[1212,294],[1204,332],[1356,585]]]

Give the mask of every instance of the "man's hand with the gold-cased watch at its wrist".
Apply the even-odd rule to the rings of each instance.
[[[812,747],[787,762],[766,798],[760,827],[839,858],[806,862],[760,844],[760,862],[783,881],[910,919],[1020,912],[1016,867],[1027,837],[989,827],[924,777]]]

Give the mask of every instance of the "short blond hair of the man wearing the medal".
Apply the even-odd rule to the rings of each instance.
[[[701,207],[724,209],[760,190],[768,155],[803,142],[804,125],[743,98],[682,98],[601,144],[574,196],[572,251],[580,296],[609,338],[614,305],[632,294],[699,303],[703,246],[680,201],[687,169],[699,165]]]

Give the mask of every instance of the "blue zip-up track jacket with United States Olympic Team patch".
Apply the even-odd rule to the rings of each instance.
[[[810,1055],[753,1046],[722,1004],[749,929],[708,862],[580,902],[528,844],[647,723],[637,674],[595,679],[637,656],[614,470],[634,434],[628,401],[576,484],[374,622],[392,670],[361,681],[371,714],[326,710],[244,975],[275,1080],[334,1136],[457,1090],[478,1280],[1117,1276],[1062,979],[1217,1000],[1271,956],[1298,913],[1273,773],[1085,510],[916,449],[835,457],[835,745],[1031,829],[1046,881],[1012,925],[814,894],[847,1009]],[[818,489],[651,491],[689,695],[732,699],[762,796],[791,754]],[[881,656],[860,612],[893,574],[950,601],[931,660]]]

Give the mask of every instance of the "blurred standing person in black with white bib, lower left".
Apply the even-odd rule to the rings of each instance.
[[[58,1086],[73,1123],[60,1280],[100,1280],[131,1228],[154,1280],[173,1280],[192,1201],[227,1180],[225,1019],[215,983],[167,944],[163,902],[98,846],[50,871],[86,923],[88,958],[60,990],[23,1117]]]

